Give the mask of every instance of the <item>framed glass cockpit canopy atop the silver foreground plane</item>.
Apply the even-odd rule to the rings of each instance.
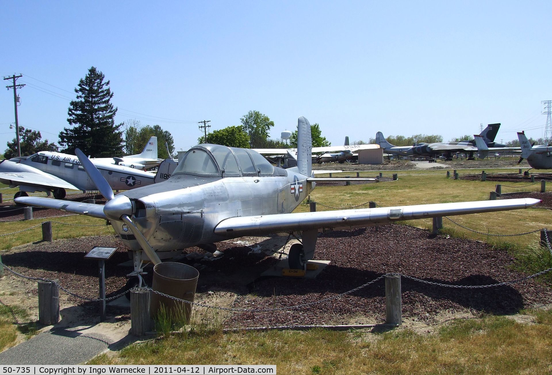
[[[184,154],[174,174],[205,177],[273,175],[274,167],[261,154],[247,148],[198,144]]]

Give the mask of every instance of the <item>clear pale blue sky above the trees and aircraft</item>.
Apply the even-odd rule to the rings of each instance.
[[[0,74],[22,73],[19,123],[58,140],[88,68],[111,81],[116,122],[172,133],[178,149],[258,110],[272,137],[305,116],[332,144],[444,140],[501,122],[542,137],[552,2],[8,1]],[[8,84],[8,81],[3,81]],[[52,87],[55,86],[55,87]],[[14,137],[0,95],[0,151]]]

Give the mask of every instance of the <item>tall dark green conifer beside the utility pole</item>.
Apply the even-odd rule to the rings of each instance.
[[[117,108],[110,100],[113,93],[109,81],[95,67],[78,82],[75,88],[77,99],[71,100],[67,111],[70,127],[60,132],[60,144],[66,153],[75,153],[80,148],[92,157],[115,157],[123,155],[123,123],[115,125]]]

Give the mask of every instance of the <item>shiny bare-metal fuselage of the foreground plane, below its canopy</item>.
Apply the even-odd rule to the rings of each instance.
[[[132,221],[152,248],[171,251],[228,239],[227,234],[213,231],[228,217],[293,211],[315,184],[307,183],[305,175],[293,170],[277,172],[283,175],[228,178],[173,175],[163,184],[122,194],[134,202],[136,212]],[[112,224],[118,233],[124,233],[122,223]],[[131,249],[140,249],[136,240],[128,238],[121,236]]]

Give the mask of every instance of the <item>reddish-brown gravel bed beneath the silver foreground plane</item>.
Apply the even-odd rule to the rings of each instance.
[[[57,278],[60,284],[79,295],[97,297],[97,263],[85,260],[93,246],[118,247],[106,264],[108,296],[124,291],[125,275],[131,267],[118,266],[128,260],[126,247],[118,238],[95,236],[56,240],[29,245],[2,253],[3,262],[25,276]],[[232,242],[219,244],[224,256],[217,260],[190,259],[198,267],[198,293],[234,293],[233,307],[289,307],[322,298],[335,297],[388,272],[450,285],[489,285],[526,275],[512,270],[513,258],[506,251],[492,249],[474,240],[433,236],[408,226],[335,231],[322,234],[316,259],[331,264],[315,280],[258,277],[272,267],[277,257],[253,251]],[[187,252],[204,253],[198,248]],[[146,269],[151,285],[151,267]],[[20,301],[36,296],[36,283],[4,278],[0,285],[9,293],[20,293]],[[12,294],[10,294],[11,296]],[[11,297],[15,298],[15,297]],[[96,303],[84,302],[60,292],[62,303],[79,305],[85,312],[97,311]],[[405,318],[431,321],[443,312],[490,312],[512,314],[522,308],[552,303],[552,287],[528,280],[492,288],[446,288],[402,277],[402,304]],[[113,310],[108,310],[113,313]],[[85,314],[86,315],[86,314]],[[225,326],[285,324],[381,323],[385,319],[383,280],[351,294],[301,309],[277,312],[235,312]]]

